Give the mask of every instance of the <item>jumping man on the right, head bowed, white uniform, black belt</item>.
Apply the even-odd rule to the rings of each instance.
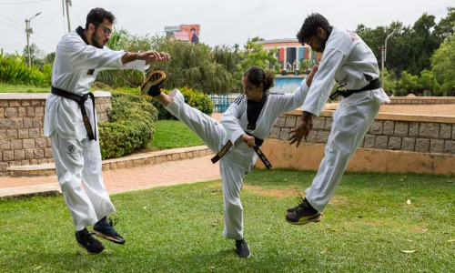
[[[298,126],[291,130],[290,144],[299,145],[312,127],[313,116],[319,116],[335,85],[343,96],[333,115],[333,124],[327,142],[325,157],[307,196],[297,207],[288,208],[286,220],[295,225],[318,222],[321,212],[329,203],[350,158],[378,115],[381,103],[389,103],[389,97],[380,88],[378,61],[359,35],[329,25],[322,15],[312,14],[305,19],[298,32],[298,42],[308,44],[323,57],[308,96],[302,106]]]

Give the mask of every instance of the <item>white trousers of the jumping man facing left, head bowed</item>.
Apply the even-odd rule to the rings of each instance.
[[[378,115],[379,107],[379,99],[366,91],[343,99],[335,111],[324,158],[307,189],[306,198],[318,211],[324,210],[335,193],[350,158]]]

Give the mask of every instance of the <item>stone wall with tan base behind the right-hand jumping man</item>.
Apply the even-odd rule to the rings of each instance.
[[[303,156],[288,145],[289,131],[296,126],[300,115],[300,111],[295,110],[279,116],[268,135],[262,150],[273,158],[274,162],[270,162],[274,167],[318,169],[316,162],[324,155],[333,111],[323,111],[315,118],[308,141],[300,149],[305,153]],[[276,150],[282,152],[277,154]],[[297,163],[299,157],[307,163]],[[453,175],[454,164],[455,116],[379,114],[360,143],[349,169]]]

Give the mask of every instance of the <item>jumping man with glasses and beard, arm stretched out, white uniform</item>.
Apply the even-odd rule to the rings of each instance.
[[[167,61],[167,53],[113,51],[109,40],[115,16],[95,8],[79,26],[58,43],[52,71],[52,94],[45,102],[45,136],[50,136],[56,175],[71,217],[76,240],[89,253],[100,253],[104,245],[86,227],[117,244],[122,238],[106,217],[115,212],[101,173],[101,153],[96,136],[94,96],[88,92],[101,69],[144,71],[154,61]],[[90,99],[88,99],[90,98]],[[81,183],[84,182],[84,188]]]

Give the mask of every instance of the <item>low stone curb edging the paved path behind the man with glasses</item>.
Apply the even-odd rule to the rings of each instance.
[[[130,168],[141,165],[155,165],[168,161],[205,157],[213,154],[207,146],[167,149],[156,152],[135,154],[126,157],[103,160],[103,170]],[[47,177],[56,175],[54,163],[28,166],[11,166],[7,168],[11,177]]]

